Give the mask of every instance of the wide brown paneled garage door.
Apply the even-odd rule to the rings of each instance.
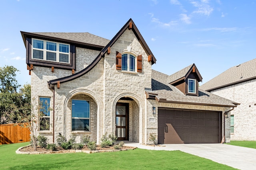
[[[221,112],[158,109],[158,143],[220,143]]]

